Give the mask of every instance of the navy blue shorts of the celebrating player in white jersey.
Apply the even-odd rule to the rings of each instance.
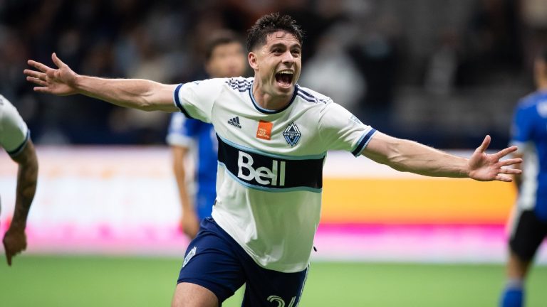
[[[212,291],[219,304],[246,284],[242,307],[296,307],[308,269],[282,273],[264,269],[212,217],[190,242],[177,283],[188,282]]]

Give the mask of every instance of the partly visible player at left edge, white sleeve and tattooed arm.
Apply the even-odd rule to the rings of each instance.
[[[25,122],[13,104],[2,95],[0,95],[0,146],[19,165],[14,217],[3,240],[6,259],[11,266],[11,258],[26,249],[26,218],[36,193],[38,159]]]

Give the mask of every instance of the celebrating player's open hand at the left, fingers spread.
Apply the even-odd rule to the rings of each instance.
[[[55,53],[51,55],[51,60],[57,68],[50,68],[42,63],[28,60],[28,65],[36,70],[26,69],[24,74],[28,82],[38,85],[34,87],[34,91],[59,96],[78,94],[75,86],[78,75],[57,58]]]

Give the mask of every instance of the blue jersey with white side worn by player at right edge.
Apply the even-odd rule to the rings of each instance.
[[[541,220],[547,221],[547,91],[534,92],[516,107],[511,143],[524,153],[523,199],[530,199]]]

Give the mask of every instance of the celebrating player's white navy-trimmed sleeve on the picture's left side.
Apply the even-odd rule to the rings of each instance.
[[[225,85],[224,78],[180,84],[174,90],[174,104],[187,117],[210,123],[214,102]]]

